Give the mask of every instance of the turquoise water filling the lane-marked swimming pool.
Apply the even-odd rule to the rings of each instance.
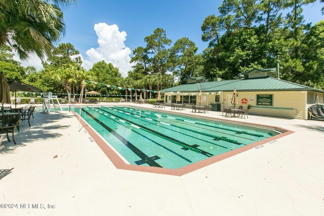
[[[123,106],[84,107],[82,117],[130,164],[171,169],[279,134]]]

